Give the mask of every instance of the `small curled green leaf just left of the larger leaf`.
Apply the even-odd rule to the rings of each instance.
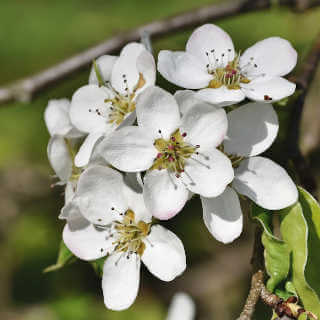
[[[288,277],[290,270],[290,251],[288,245],[266,232],[262,235],[262,243],[265,248],[265,266],[270,277],[267,289],[274,292],[276,287]]]

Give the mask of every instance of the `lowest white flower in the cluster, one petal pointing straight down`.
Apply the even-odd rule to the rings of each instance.
[[[63,208],[66,246],[80,259],[108,255],[102,278],[107,308],[123,310],[134,302],[141,261],[163,281],[186,268],[181,240],[160,225],[151,225],[143,196],[126,186],[122,175],[108,167],[91,167],[78,181],[73,200]]]

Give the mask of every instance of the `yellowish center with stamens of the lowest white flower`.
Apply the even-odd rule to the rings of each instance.
[[[149,234],[151,223],[135,221],[135,214],[132,210],[127,210],[121,222],[114,222],[115,228],[115,252],[129,254],[139,254],[142,256],[146,245],[143,240]]]

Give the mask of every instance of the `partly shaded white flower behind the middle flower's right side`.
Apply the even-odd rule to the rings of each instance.
[[[272,105],[248,103],[227,116],[229,129],[223,145],[235,167],[235,178],[220,196],[201,197],[205,224],[224,243],[232,242],[242,231],[236,192],[268,210],[283,209],[298,199],[297,188],[287,172],[257,156],[271,146],[278,133],[278,117]]]

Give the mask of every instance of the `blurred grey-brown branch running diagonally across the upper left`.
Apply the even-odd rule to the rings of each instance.
[[[43,88],[88,66],[96,57],[117,52],[130,41],[138,41],[143,32],[148,32],[150,36],[156,38],[208,21],[267,8],[269,5],[270,0],[230,0],[221,4],[193,9],[170,18],[151,22],[132,31],[123,32],[51,68],[0,88],[0,104],[9,101],[30,101]]]

